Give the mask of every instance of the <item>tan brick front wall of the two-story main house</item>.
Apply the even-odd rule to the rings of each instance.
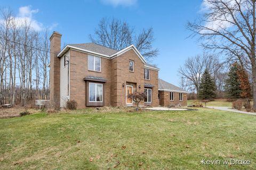
[[[89,75],[107,80],[103,99],[105,106],[126,106],[126,84],[133,84],[133,91],[144,92],[144,63],[133,49],[112,60],[101,57],[101,72],[87,70],[87,56],[70,49],[70,100],[77,101],[77,108],[86,107],[86,83],[83,79]],[[129,60],[134,61],[134,72],[129,71]],[[152,105],[158,106],[158,71],[150,70],[147,82],[154,85]],[[144,105],[143,101],[141,105]]]

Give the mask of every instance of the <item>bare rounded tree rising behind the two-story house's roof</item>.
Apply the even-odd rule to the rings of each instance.
[[[143,29],[138,35],[126,21],[102,18],[94,35],[89,35],[93,43],[116,50],[121,50],[131,44],[139,50],[147,61],[158,55],[158,49],[152,47],[154,41],[153,28]]]

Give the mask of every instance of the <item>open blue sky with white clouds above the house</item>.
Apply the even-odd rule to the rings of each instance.
[[[178,69],[186,58],[202,53],[196,39],[186,38],[186,23],[194,21],[202,8],[202,0],[141,1],[2,1],[20,17],[27,17],[36,30],[45,28],[62,33],[62,45],[88,43],[102,17],[126,20],[135,30],[153,27],[159,55],[153,64],[161,71],[159,78],[179,84]]]

